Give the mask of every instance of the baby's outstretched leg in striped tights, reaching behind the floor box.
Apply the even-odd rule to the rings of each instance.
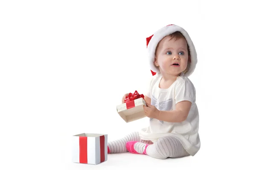
[[[121,139],[108,142],[108,153],[124,153],[128,152],[126,149],[126,143],[129,141],[137,141],[143,143],[149,143],[149,141],[140,140],[139,132],[133,132]]]

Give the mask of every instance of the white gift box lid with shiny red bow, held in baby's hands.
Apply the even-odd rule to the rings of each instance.
[[[145,117],[143,105],[146,106],[144,95],[135,91],[134,94],[130,93],[125,98],[125,103],[117,105],[116,110],[119,116],[128,123]]]

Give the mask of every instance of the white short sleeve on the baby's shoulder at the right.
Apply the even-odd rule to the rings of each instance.
[[[181,101],[195,102],[195,87],[189,80],[181,81],[175,87],[175,104]]]

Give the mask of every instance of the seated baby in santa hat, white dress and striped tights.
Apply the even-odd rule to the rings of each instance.
[[[165,26],[146,40],[153,75],[144,94],[149,125],[108,142],[108,153],[130,152],[157,159],[194,156],[201,146],[196,92],[188,78],[197,64],[194,44],[176,25]]]

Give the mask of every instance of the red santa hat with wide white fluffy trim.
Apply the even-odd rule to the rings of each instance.
[[[165,27],[159,29],[153,35],[146,38],[147,48],[148,48],[149,65],[150,65],[151,73],[153,76],[155,74],[160,74],[159,69],[154,65],[155,51],[156,51],[158,42],[160,42],[160,40],[162,40],[167,35],[172,34],[176,31],[179,31],[181,34],[183,34],[183,36],[186,38],[187,44],[189,45],[191,62],[190,62],[188,71],[184,75],[186,77],[189,77],[195,70],[195,66],[197,64],[197,54],[195,51],[195,46],[194,46],[192,40],[190,39],[189,34],[180,26],[171,24],[171,25],[168,25],[168,26],[165,26]]]

